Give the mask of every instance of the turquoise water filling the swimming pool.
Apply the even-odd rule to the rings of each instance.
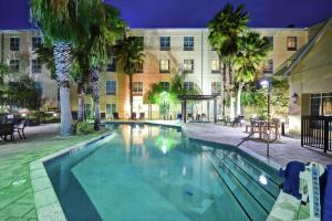
[[[266,220],[277,171],[180,129],[110,125],[112,138],[45,162],[69,221]]]

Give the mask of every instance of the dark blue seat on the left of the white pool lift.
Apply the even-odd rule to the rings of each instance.
[[[299,192],[300,172],[304,171],[305,165],[299,161],[290,161],[286,169],[279,170],[279,176],[284,178],[283,191],[288,194],[301,199],[302,194]]]

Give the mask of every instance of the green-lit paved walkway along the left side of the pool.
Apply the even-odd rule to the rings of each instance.
[[[29,164],[60,149],[91,139],[58,136],[59,125],[27,127],[27,139],[0,140],[0,221],[37,220]]]

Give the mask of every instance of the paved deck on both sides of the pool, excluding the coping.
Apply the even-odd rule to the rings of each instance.
[[[243,128],[215,124],[179,124],[178,122],[146,120],[148,123],[181,126],[189,138],[206,141],[238,145],[248,134]],[[79,143],[93,139],[96,134],[62,138],[58,136],[59,125],[27,128],[27,140],[0,141],[0,221],[37,220],[35,203],[29,165],[31,161],[58,152]],[[332,164],[332,156],[302,148],[300,139],[281,137],[270,145],[270,157],[266,158],[266,143],[249,140],[240,149],[260,158],[284,166],[290,160]]]

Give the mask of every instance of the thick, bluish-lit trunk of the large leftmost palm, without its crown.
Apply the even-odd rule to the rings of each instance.
[[[56,78],[60,82],[61,136],[73,134],[73,118],[70,101],[71,44],[56,42],[54,44],[54,63]]]

